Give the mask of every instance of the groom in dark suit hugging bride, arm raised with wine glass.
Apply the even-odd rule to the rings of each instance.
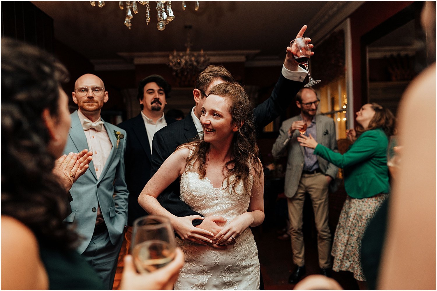
[[[306,30],[306,25],[299,31],[297,38],[302,37]],[[311,45],[312,47],[312,45]],[[288,105],[293,100],[293,97],[302,87],[302,81],[305,79],[307,72],[298,66],[293,56],[291,49],[287,49],[287,56],[284,61],[281,75],[274,87],[274,90],[269,99],[261,103],[253,109],[255,125],[257,128],[262,128],[271,123],[277,116],[284,113]],[[191,113],[183,120],[177,121],[168,127],[158,131],[153,138],[152,151],[152,171],[153,176],[161,164],[167,157],[172,154],[176,148],[199,138],[199,134],[203,134],[203,129],[200,123],[201,107],[208,96],[209,91],[215,85],[221,82],[234,82],[232,75],[222,66],[209,66],[204,72],[201,72],[196,80],[196,88],[193,90],[195,106]],[[179,198],[179,181],[174,181],[164,192],[162,192],[158,201],[170,213],[176,216],[191,216],[201,215],[191,210],[191,208]],[[216,233],[217,219],[206,217],[204,220],[194,219],[193,226],[198,226],[207,229],[212,233]],[[199,240],[191,236],[195,233],[193,226],[173,226],[175,231],[186,233],[186,240],[194,243],[200,243]],[[217,247],[216,245],[213,245]]]

